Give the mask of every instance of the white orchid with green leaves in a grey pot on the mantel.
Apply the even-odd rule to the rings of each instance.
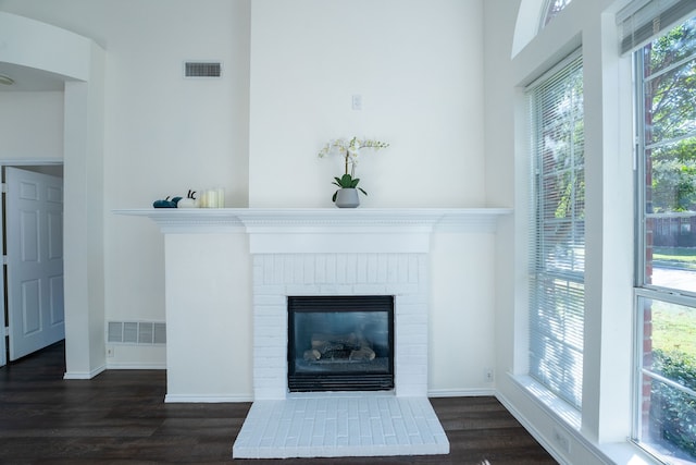
[[[330,140],[324,148],[320,150],[320,158],[324,158],[334,152],[344,158],[345,173],[340,178],[334,178],[334,182],[332,183],[340,187],[332,197],[332,201],[336,203],[337,207],[355,208],[360,205],[358,191],[368,195],[362,187],[358,187],[360,179],[356,178],[356,164],[358,164],[360,151],[365,148],[380,150],[381,148],[387,148],[389,144],[380,140],[366,138],[359,139],[353,136],[350,140],[343,138]]]

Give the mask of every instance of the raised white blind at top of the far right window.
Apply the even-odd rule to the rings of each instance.
[[[696,0],[634,0],[617,13],[621,52],[643,47],[696,10]]]

